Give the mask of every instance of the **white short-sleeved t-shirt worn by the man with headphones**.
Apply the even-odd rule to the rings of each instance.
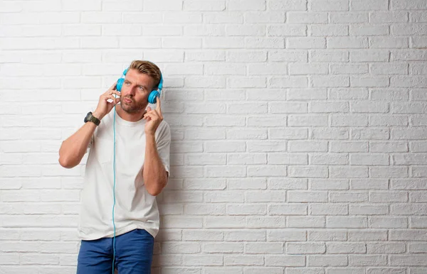
[[[95,240],[114,235],[113,206],[113,119],[115,109],[95,129],[80,196],[78,235]],[[142,177],[145,156],[145,120],[126,121],[115,116],[115,227],[116,236],[133,229],[145,229],[153,237],[159,232],[159,209]],[[155,133],[157,151],[169,175],[169,124],[162,121]]]

